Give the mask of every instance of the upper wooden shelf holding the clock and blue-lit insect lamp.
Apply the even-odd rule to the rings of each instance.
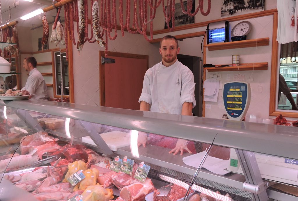
[[[221,49],[235,49],[235,48],[243,48],[243,47],[265,46],[265,45],[269,45],[269,38],[257,38],[257,39],[233,41],[233,42],[226,42],[226,43],[211,43],[209,45],[204,45],[204,47],[207,47],[209,51],[213,51],[213,50],[221,50]]]

